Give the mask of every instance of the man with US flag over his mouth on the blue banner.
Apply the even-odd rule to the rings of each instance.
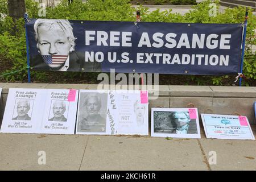
[[[33,69],[101,71],[100,63],[85,62],[85,52],[75,50],[77,38],[73,35],[73,28],[68,20],[36,19],[34,34],[38,54],[30,59],[30,66]]]

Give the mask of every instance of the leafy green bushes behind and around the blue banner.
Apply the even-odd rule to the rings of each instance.
[[[174,1],[174,0],[172,0]],[[0,0],[0,14],[7,16],[7,0]],[[134,21],[135,9],[129,5],[129,0],[88,0],[82,3],[81,0],[74,0],[70,5],[64,0],[54,8],[47,8],[46,18],[73,19],[73,20],[116,20]],[[183,1],[180,1],[183,2]],[[185,1],[184,1],[185,2]],[[226,9],[224,13],[210,16],[209,6],[212,1],[205,1],[193,6],[193,10],[185,15],[172,13],[172,10],[159,10],[149,12],[147,8],[140,6],[141,18],[143,22],[181,22],[181,23],[242,23],[245,19],[245,8],[237,7]],[[219,2],[215,1],[218,9]],[[38,18],[38,3],[26,0],[26,11],[30,18]],[[15,35],[10,32],[16,27]],[[246,49],[243,73],[249,80],[256,80],[256,56],[252,53],[251,45],[256,45],[256,17],[249,10],[249,21],[247,25]],[[13,75],[5,75],[6,81],[26,81],[27,79],[27,58],[26,58],[26,39],[24,34],[24,20],[20,19],[13,22],[7,16],[0,19],[0,60],[9,60],[12,68],[1,73],[10,73],[21,70]],[[49,72],[31,72],[32,79],[45,81]],[[81,77],[82,73],[59,73],[65,78]],[[95,78],[96,73],[86,73],[89,77]],[[228,76],[209,77],[209,76],[188,76],[188,80],[196,82],[198,85],[213,84],[221,85]],[[210,82],[209,82],[210,81]],[[186,84],[186,83],[184,83]],[[245,82],[246,84],[246,82]],[[247,84],[248,85],[248,84]]]

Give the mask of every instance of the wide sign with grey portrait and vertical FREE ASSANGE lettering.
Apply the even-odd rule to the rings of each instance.
[[[76,134],[148,135],[140,90],[80,90]]]

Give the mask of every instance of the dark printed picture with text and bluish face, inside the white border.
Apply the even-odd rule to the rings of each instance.
[[[188,111],[154,111],[154,132],[197,134],[196,119],[190,119]]]

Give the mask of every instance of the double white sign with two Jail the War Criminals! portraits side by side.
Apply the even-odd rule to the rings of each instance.
[[[9,89],[1,133],[74,134],[77,94],[70,90]]]

